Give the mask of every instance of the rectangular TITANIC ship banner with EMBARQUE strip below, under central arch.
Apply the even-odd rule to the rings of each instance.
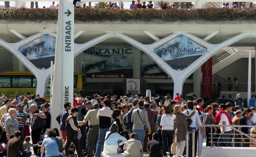
[[[90,78],[132,78],[133,48],[91,47],[83,52],[82,72]]]

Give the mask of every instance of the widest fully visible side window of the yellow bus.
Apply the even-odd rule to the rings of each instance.
[[[13,87],[31,87],[31,76],[14,76],[12,77]]]

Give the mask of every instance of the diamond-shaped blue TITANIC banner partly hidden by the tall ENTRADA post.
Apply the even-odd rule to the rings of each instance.
[[[52,35],[44,34],[33,42],[20,47],[19,51],[37,68],[48,69],[50,62],[54,62],[55,46],[56,38]]]

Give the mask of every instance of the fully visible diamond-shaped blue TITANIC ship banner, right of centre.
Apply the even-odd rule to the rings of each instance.
[[[154,52],[173,69],[183,70],[207,52],[207,49],[185,35],[178,35]]]

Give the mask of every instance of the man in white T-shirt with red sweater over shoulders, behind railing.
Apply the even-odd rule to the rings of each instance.
[[[230,111],[232,111],[233,105],[229,102],[226,104],[226,110],[220,111],[220,125],[232,125],[232,121],[228,115]],[[226,146],[226,147],[232,147],[231,145],[231,134],[232,134],[232,128],[231,127],[220,127],[221,134],[218,139],[217,146]],[[225,143],[223,143],[225,142]],[[227,143],[226,143],[227,142]]]

